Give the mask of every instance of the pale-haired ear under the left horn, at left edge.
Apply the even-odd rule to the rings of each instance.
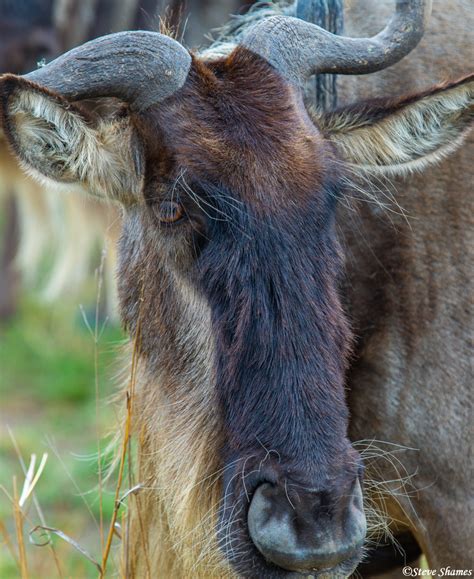
[[[126,205],[137,202],[143,153],[128,114],[93,120],[60,95],[14,75],[0,77],[0,99],[5,135],[33,177]]]

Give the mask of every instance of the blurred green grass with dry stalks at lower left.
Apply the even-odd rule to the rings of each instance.
[[[88,316],[94,326],[94,313]],[[102,330],[102,328],[101,328]],[[12,492],[13,476],[19,492],[24,475],[9,430],[26,463],[32,453],[38,461],[49,458],[36,486],[36,496],[47,525],[61,529],[100,559],[100,518],[97,436],[116,424],[114,376],[123,335],[106,324],[95,346],[94,336],[78,307],[46,308],[23,300],[18,315],[0,326],[0,484]],[[96,371],[100,391],[99,424],[96,420]],[[106,441],[102,439],[105,446]],[[59,454],[58,458],[54,450]],[[82,458],[80,458],[82,456]],[[103,460],[105,467],[106,460]],[[71,478],[74,481],[71,482]],[[77,488],[83,496],[78,493]],[[113,483],[102,493],[104,524],[113,510]],[[85,504],[89,505],[92,515]],[[29,577],[59,576],[51,552],[28,543],[27,533],[39,518],[31,499],[27,503],[25,542]],[[16,544],[12,506],[0,490],[0,520]],[[96,577],[97,570],[61,539],[53,539],[65,577]],[[1,540],[3,542],[3,538]],[[19,577],[19,570],[5,545],[0,546],[0,577]]]

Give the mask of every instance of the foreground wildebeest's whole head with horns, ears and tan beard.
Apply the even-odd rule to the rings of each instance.
[[[124,33],[2,78],[3,128],[25,168],[123,207],[144,487],[132,575],[337,577],[361,559],[336,210],[354,172],[403,175],[452,152],[472,122],[473,79],[311,116],[300,86],[393,64],[428,13],[398,2],[380,35],[359,40],[273,16],[220,58]],[[125,103],[110,118],[74,104],[110,96]]]

